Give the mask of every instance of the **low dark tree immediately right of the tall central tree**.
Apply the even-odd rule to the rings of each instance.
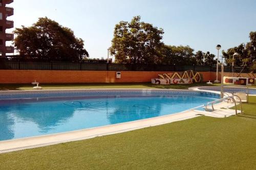
[[[194,49],[189,46],[164,45],[161,49],[162,64],[193,65],[197,64]]]

